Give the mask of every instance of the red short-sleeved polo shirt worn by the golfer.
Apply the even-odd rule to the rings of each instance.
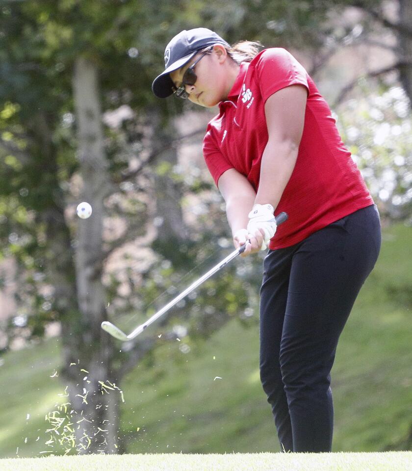
[[[294,84],[308,91],[305,124],[295,168],[275,210],[286,211],[289,219],[270,241],[272,250],[294,245],[373,204],[329,106],[302,65],[281,48],[266,49],[252,62],[242,62],[228,100],[219,104],[219,114],[207,126],[203,152],[215,183],[234,168],[258,189],[268,140],[264,104],[273,93]]]

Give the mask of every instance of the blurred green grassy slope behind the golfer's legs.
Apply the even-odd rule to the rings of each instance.
[[[402,225],[385,230],[378,264],[342,334],[332,374],[333,451],[410,449],[411,233]],[[258,326],[246,329],[233,321],[203,343],[187,342],[191,350],[182,353],[179,347],[185,342],[160,346],[150,365],[140,363],[122,382],[126,402],[121,404],[120,434],[127,452],[141,453],[135,458],[140,463],[143,453],[278,451],[259,382]],[[44,416],[61,402],[58,393],[65,388],[59,377],[51,377],[60,367],[59,342],[50,340],[2,358],[0,457],[51,451],[45,446]],[[284,455],[274,456],[279,460]],[[274,465],[261,469],[276,470]]]

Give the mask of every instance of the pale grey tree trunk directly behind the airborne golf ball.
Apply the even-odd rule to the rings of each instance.
[[[93,213],[79,219],[76,283],[79,318],[64,337],[65,377],[71,406],[79,422],[77,451],[116,452],[118,391],[105,389],[117,380],[111,372],[113,347],[100,325],[106,318],[103,264],[103,200],[109,184],[103,146],[103,125],[95,65],[83,58],[75,63],[73,88],[77,117],[78,159],[83,179],[82,201]],[[71,366],[70,366],[71,365]],[[110,383],[109,383],[110,382]],[[112,386],[110,386],[112,387]],[[77,422],[76,420],[76,422]]]

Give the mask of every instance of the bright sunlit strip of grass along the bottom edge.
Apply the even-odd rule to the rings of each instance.
[[[410,471],[412,452],[91,455],[0,460],[2,471]]]

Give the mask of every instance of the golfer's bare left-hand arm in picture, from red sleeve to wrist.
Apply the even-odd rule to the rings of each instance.
[[[217,182],[226,203],[226,215],[232,235],[239,229],[246,229],[248,214],[256,198],[256,192],[246,177],[234,168],[226,170]]]

